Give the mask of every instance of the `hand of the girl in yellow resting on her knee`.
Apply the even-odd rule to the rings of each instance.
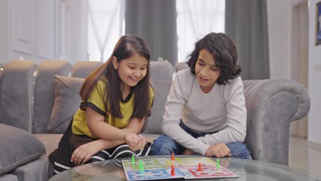
[[[91,156],[97,154],[100,151],[99,145],[97,141],[93,141],[90,143],[86,143],[81,145],[71,155],[71,162],[75,165],[84,164],[91,158]]]

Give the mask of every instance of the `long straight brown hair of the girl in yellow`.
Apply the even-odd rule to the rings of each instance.
[[[122,99],[121,79],[117,69],[112,66],[112,57],[115,56],[117,62],[121,62],[121,60],[130,58],[130,56],[135,54],[139,54],[147,59],[147,73],[136,86],[131,88],[134,94],[134,110],[131,118],[142,119],[146,117],[149,114],[150,104],[150,49],[147,43],[138,36],[125,35],[119,38],[107,62],[86,77],[80,89],[82,101],[87,101],[91,91],[101,77],[107,77],[108,83],[106,83],[104,96],[106,111],[110,112],[114,117],[123,117],[119,108],[119,101]]]

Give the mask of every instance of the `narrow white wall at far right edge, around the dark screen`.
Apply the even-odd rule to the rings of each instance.
[[[316,46],[316,3],[309,1],[309,112],[308,140],[321,143],[321,45]]]

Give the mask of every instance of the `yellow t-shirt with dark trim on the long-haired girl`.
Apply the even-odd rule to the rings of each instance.
[[[91,138],[97,138],[91,134],[88,128],[87,119],[86,119],[86,108],[90,107],[99,114],[102,114],[105,117],[105,122],[109,125],[115,126],[116,128],[125,128],[130,121],[132,112],[134,110],[134,95],[130,93],[126,100],[119,101],[119,108],[123,118],[112,117],[109,112],[106,112],[105,108],[105,89],[108,80],[106,77],[99,80],[96,86],[93,88],[91,95],[89,95],[86,102],[80,104],[80,108],[77,110],[73,116],[73,134],[78,135],[87,135]],[[150,109],[152,108],[152,101],[154,99],[154,90],[150,86]]]

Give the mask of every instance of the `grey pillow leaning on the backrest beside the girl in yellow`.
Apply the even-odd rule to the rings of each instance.
[[[84,79],[55,76],[55,104],[51,110],[47,133],[64,133],[82,98],[79,95]]]

